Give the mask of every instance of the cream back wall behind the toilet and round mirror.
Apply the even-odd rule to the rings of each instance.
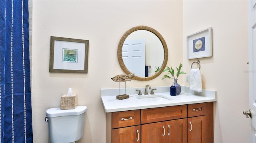
[[[60,106],[68,87],[78,94],[78,105],[88,107],[84,137],[78,143],[106,142],[106,114],[101,88],[119,88],[110,78],[124,74],[117,59],[118,42],[131,27],[147,25],[164,37],[168,65],[182,62],[182,1],[33,1],[32,123],[35,143],[47,143],[44,122],[48,108]],[[89,40],[88,74],[49,73],[50,36]],[[157,55],[156,55],[157,56]],[[163,75],[163,74],[162,74]],[[127,87],[171,85],[158,78]],[[182,76],[180,78],[182,85]]]

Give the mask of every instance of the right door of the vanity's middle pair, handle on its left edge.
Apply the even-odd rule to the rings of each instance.
[[[166,121],[166,143],[187,143],[187,118]]]

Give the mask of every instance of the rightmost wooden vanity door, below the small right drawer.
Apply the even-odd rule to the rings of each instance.
[[[207,143],[206,116],[188,118],[188,143]]]

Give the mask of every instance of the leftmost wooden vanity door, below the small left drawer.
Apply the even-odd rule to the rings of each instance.
[[[140,125],[112,129],[112,143],[141,143]]]

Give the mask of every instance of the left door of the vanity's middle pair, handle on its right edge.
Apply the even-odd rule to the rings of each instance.
[[[165,121],[141,125],[142,143],[165,143]]]

